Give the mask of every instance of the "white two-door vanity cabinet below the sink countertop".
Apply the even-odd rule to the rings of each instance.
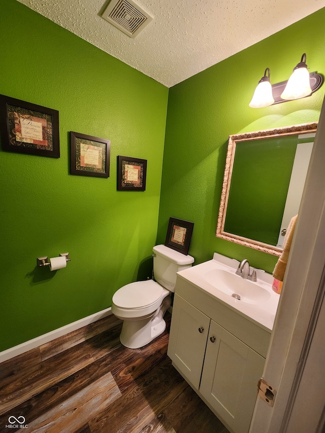
[[[177,276],[168,356],[234,433],[248,432],[270,332]]]

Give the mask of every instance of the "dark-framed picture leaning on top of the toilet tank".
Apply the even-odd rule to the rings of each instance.
[[[166,247],[187,255],[193,226],[193,222],[171,217],[167,229]]]

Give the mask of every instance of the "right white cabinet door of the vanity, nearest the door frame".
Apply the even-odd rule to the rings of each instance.
[[[236,433],[248,432],[264,362],[211,320],[200,392]]]

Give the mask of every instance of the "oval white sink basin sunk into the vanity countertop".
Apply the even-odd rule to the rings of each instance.
[[[244,280],[242,277],[223,269],[212,269],[204,275],[204,278],[217,290],[248,304],[265,302],[271,296],[271,293],[258,283]]]

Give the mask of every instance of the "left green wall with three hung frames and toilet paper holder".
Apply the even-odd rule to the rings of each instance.
[[[0,151],[0,350],[111,305],[151,276],[168,88],[15,0],[0,0],[0,93],[59,111],[59,159]],[[109,179],[70,175],[69,132],[111,140]],[[116,190],[117,155],[148,160]],[[69,251],[67,268],[37,257]]]

